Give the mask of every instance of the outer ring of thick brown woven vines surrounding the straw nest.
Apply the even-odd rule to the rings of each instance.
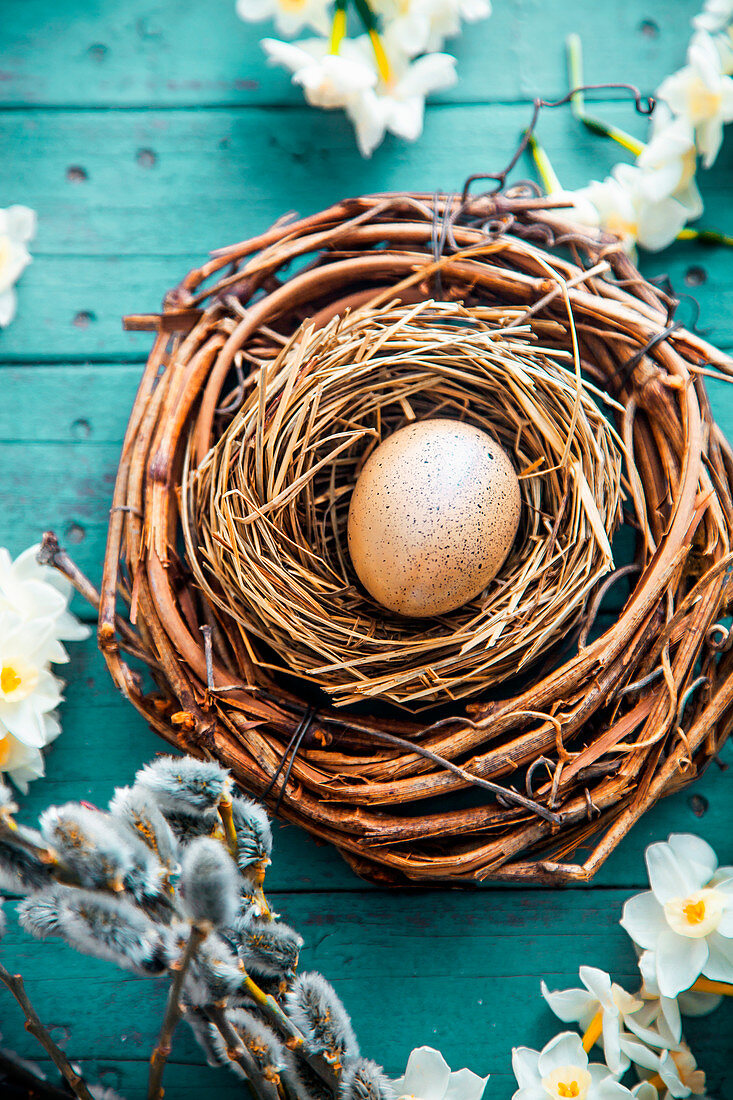
[[[365,704],[314,711],[304,692],[267,678],[231,617],[201,598],[179,550],[184,458],[201,462],[231,418],[222,406],[232,375],[239,400],[306,318],[319,327],[347,308],[436,296],[523,309],[535,328],[550,323],[541,343],[560,351],[573,353],[575,337],[583,375],[623,406],[636,561],[620,584],[615,573],[601,582],[583,631],[606,585],[623,607],[560,668],[514,694],[504,684],[506,697],[479,698],[468,713],[457,703],[439,724],[380,717]],[[733,647],[719,622],[733,453],[702,377],[733,370],[670,327],[669,306],[614,239],[525,190],[344,200],[215,254],[162,315],[129,322],[157,336],[122,451],[102,580],[99,639],[114,682],[162,737],[216,756],[271,804],[282,798],[284,817],[336,844],[362,875],[589,879],[649,805],[713,759],[733,722]],[[120,593],[127,622],[116,616]],[[149,662],[155,692],[125,650]],[[291,743],[299,750],[278,771]],[[457,804],[477,778],[489,789]]]

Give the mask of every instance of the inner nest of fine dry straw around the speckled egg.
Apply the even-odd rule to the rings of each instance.
[[[339,705],[416,708],[485,692],[561,644],[612,565],[623,448],[572,355],[539,343],[559,327],[536,328],[521,310],[431,300],[306,321],[263,360],[206,458],[187,449],[186,557],[256,666]],[[374,448],[435,416],[513,455],[524,521],[488,591],[416,622],[359,584],[347,516]]]

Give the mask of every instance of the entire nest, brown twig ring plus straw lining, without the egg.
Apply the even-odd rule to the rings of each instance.
[[[130,321],[157,337],[110,521],[112,675],[382,881],[587,879],[731,726],[733,454],[702,377],[731,363],[565,217],[522,189],[353,199]],[[360,588],[343,522],[369,447],[434,415],[501,440],[524,518],[486,592],[416,625]]]

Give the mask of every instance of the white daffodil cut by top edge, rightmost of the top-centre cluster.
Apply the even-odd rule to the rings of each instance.
[[[491,15],[489,0],[404,0],[382,6],[385,42],[405,57],[433,53],[455,37],[461,22],[474,23]]]

